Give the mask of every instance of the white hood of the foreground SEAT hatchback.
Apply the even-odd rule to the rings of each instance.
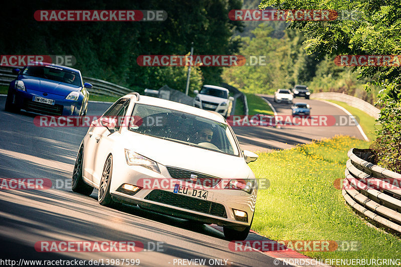
[[[127,131],[127,149],[164,166],[178,167],[220,178],[248,178],[250,169],[243,157]]]

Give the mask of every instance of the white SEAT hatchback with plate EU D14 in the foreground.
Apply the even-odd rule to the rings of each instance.
[[[92,122],[72,190],[89,195],[97,188],[101,205],[137,204],[216,223],[240,240],[251,228],[258,190],[247,163],[257,158],[241,151],[220,114],[131,93]]]

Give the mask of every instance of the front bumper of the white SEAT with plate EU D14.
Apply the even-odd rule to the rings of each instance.
[[[216,223],[238,230],[242,230],[251,224],[257,196],[256,181],[255,188],[250,194],[243,190],[224,189],[228,179],[222,179],[215,187],[194,187],[190,182],[171,178],[165,166],[159,164],[159,167],[161,174],[141,166],[126,165],[123,168],[113,169],[110,187],[113,199],[117,202],[138,204],[141,207],[176,217],[198,220],[204,223]],[[200,175],[196,172],[190,172]],[[152,181],[150,188],[146,186],[137,190],[133,195],[124,193],[119,189],[124,183],[140,186],[144,184],[143,181],[149,184],[149,180]],[[155,180],[159,182],[153,182]],[[163,184],[160,181],[163,181]],[[183,185],[189,190],[195,188],[207,191],[207,198],[174,193],[175,184]],[[233,209],[245,211],[247,220],[236,219]]]

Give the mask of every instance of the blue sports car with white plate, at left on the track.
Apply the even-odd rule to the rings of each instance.
[[[88,108],[90,83],[83,84],[76,69],[46,63],[33,63],[10,83],[6,111],[21,109],[45,115],[83,116]]]

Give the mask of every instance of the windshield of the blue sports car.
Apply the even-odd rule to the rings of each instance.
[[[56,66],[28,66],[22,74],[82,86],[81,76],[78,72],[65,70]]]

